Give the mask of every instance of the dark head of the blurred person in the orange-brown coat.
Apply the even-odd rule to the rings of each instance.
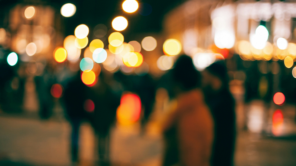
[[[200,86],[200,72],[195,69],[192,58],[189,56],[180,56],[172,70],[173,81],[182,91],[188,91]]]

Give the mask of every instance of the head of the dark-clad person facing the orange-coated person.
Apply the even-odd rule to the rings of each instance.
[[[203,87],[210,87],[213,91],[227,88],[228,75],[226,66],[222,62],[215,62],[202,72]]]

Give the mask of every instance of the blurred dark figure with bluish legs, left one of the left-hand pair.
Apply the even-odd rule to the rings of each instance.
[[[78,162],[79,128],[81,122],[86,117],[83,104],[86,100],[86,85],[80,79],[80,72],[68,82],[65,87],[65,107],[67,118],[70,121],[71,132],[71,156],[72,162]]]

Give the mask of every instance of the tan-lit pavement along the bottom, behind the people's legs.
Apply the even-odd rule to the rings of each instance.
[[[141,133],[139,124],[114,126],[110,157],[114,166],[160,166],[162,137]],[[70,166],[70,125],[64,119],[0,115],[1,166]],[[89,123],[80,130],[80,166],[97,161],[96,137]],[[275,139],[247,131],[239,132],[235,166],[295,166],[295,139]]]

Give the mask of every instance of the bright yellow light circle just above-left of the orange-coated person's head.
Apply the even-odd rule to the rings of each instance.
[[[168,39],[163,43],[163,52],[167,55],[178,55],[182,50],[181,43],[176,39]]]

